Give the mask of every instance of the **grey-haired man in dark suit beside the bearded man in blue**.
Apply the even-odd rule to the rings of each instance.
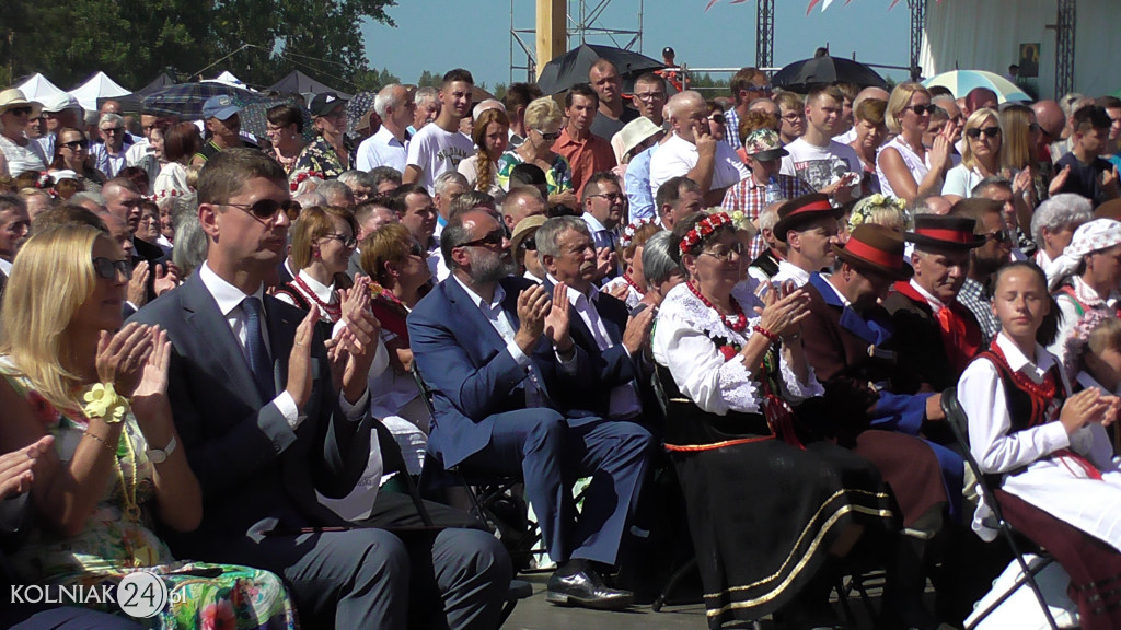
[[[649,340],[654,309],[643,309],[628,325],[627,305],[595,288],[596,248],[584,221],[549,219],[537,230],[536,241],[548,271],[544,287],[553,291],[560,282],[566,286],[569,313],[576,315],[569,317],[568,330],[587,353],[597,383],[590,391],[576,392],[572,406],[604,418],[637,419],[642,413],[638,382],[652,373],[652,365],[643,365],[642,348]]]

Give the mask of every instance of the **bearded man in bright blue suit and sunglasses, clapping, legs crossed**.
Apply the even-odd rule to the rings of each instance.
[[[413,354],[434,392],[429,451],[445,466],[524,475],[558,564],[547,601],[626,608],[632,595],[605,586],[601,573],[618,560],[650,434],[566,404],[602,387],[593,358],[569,335],[564,284],[550,303],[543,287],[510,277],[510,241],[493,215],[453,216],[441,250],[452,275],[408,318]],[[577,517],[571,484],[586,475],[593,481]]]

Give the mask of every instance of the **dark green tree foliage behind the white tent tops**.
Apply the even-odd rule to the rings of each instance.
[[[367,70],[360,26],[395,26],[395,0],[0,0],[0,68],[41,72],[61,87],[104,71],[137,89],[174,68],[183,81],[229,70],[263,86],[300,70],[340,89]],[[226,57],[228,58],[223,58]],[[385,71],[383,71],[385,72]],[[388,72],[385,72],[387,76]]]

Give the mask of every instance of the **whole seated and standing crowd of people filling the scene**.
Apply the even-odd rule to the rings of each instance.
[[[0,92],[0,568],[175,595],[4,622],[491,629],[520,566],[447,487],[515,478],[554,604],[630,608],[640,536],[711,628],[845,627],[869,566],[878,627],[953,627],[1010,559],[969,448],[1121,627],[1121,101],[632,78],[456,68],[261,138]]]

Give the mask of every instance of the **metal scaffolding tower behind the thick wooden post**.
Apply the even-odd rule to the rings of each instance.
[[[638,0],[638,26],[634,28],[609,28],[601,24],[603,12],[612,0],[563,0],[568,4],[567,36],[571,50],[581,44],[608,44],[624,50],[642,52],[642,11],[646,0]],[[773,1],[773,0],[768,0]],[[518,0],[510,0],[510,82],[537,80],[537,54],[532,28],[518,28],[515,7]],[[522,4],[525,2],[522,1]],[[594,39],[593,39],[594,38]],[[525,65],[515,61],[525,55]],[[515,78],[515,71],[526,71],[525,78]]]

